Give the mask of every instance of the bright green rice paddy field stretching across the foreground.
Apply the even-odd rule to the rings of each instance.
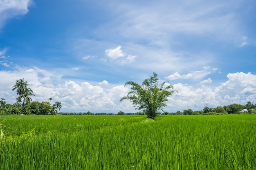
[[[256,169],[256,115],[1,116],[1,170]]]

